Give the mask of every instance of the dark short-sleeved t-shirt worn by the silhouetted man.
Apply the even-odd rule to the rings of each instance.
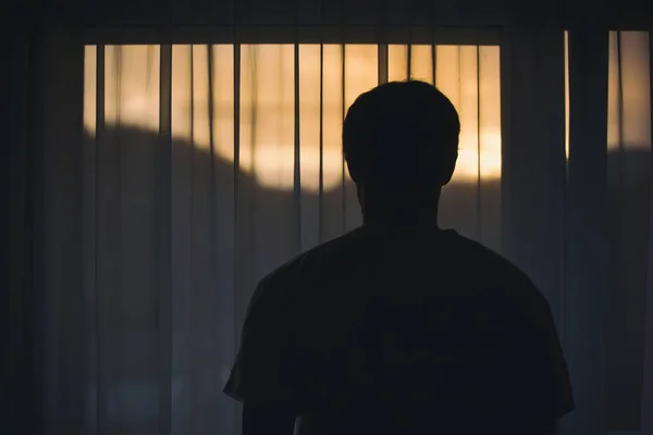
[[[259,283],[224,391],[293,409],[299,435],[489,433],[575,408],[521,271],[455,231],[374,225]]]

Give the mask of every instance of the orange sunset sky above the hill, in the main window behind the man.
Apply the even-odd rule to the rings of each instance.
[[[158,133],[159,55],[159,46],[104,48],[107,128]],[[85,58],[84,125],[95,134],[97,48],[86,47]],[[173,46],[173,139],[233,164],[238,111],[238,167],[264,187],[287,190],[295,183],[298,115],[301,188],[341,186],[348,181],[341,152],[342,120],[355,98],[377,85],[378,48],[300,45],[298,59],[296,98],[295,46],[241,46],[239,98],[235,99],[233,46]],[[461,134],[454,183],[501,177],[498,47],[412,46],[408,50],[390,46],[387,69],[391,80],[408,75],[434,79],[456,105]]]

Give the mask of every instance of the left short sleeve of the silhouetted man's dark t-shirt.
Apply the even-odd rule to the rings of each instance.
[[[238,355],[223,390],[241,402],[280,405],[293,399],[291,307],[283,294],[283,288],[262,282],[249,302]]]

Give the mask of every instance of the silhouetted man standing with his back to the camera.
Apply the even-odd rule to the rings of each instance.
[[[460,124],[423,82],[347,112],[359,228],[263,278],[225,393],[244,435],[543,435],[574,409],[550,307],[508,261],[438,227]]]

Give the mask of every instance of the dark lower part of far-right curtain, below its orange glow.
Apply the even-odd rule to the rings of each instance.
[[[606,301],[606,430],[639,431],[649,262],[651,153],[607,154],[609,264]]]

